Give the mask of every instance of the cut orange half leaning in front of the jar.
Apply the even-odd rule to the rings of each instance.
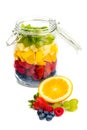
[[[42,81],[38,92],[49,103],[61,102],[67,99],[73,90],[70,79],[64,76],[53,76]]]

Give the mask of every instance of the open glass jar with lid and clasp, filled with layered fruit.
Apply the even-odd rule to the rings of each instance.
[[[55,31],[79,48],[53,19],[17,21],[7,44],[15,43],[14,70],[20,84],[36,87],[56,74],[58,46]]]

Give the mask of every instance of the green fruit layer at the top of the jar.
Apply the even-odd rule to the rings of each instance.
[[[22,24],[21,29],[25,32],[29,32],[30,35],[23,35],[20,33],[21,38],[19,39],[18,43],[23,43],[25,47],[35,45],[37,48],[44,45],[52,44],[55,37],[52,34],[41,35],[43,29],[48,29],[48,27],[33,27],[30,24],[24,25]],[[34,36],[32,35],[34,34]],[[38,35],[37,35],[38,34]],[[37,35],[35,37],[35,35]],[[40,44],[41,43],[41,44]]]

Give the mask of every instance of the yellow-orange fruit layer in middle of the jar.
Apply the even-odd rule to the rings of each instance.
[[[17,44],[15,47],[15,59],[21,59],[29,64],[45,65],[46,62],[55,62],[57,59],[57,45],[44,45],[43,47],[36,48],[34,45],[24,47],[22,43]]]

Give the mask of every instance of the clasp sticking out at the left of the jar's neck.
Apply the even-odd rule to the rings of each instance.
[[[16,38],[17,33],[14,30],[12,30],[12,35],[6,41],[7,46],[11,46],[12,44],[14,44],[16,42]]]

